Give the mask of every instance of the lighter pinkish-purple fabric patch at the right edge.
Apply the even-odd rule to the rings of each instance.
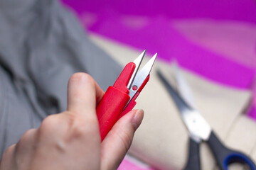
[[[256,68],[256,24],[191,19],[176,20],[174,27],[196,45],[245,67]]]

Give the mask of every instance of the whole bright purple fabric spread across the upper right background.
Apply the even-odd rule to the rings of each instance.
[[[165,62],[176,58],[182,67],[224,86],[255,89],[254,0],[61,1],[88,33],[157,51]],[[254,95],[247,114],[256,119],[255,106]]]

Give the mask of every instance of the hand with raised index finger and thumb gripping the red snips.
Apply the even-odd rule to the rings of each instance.
[[[25,132],[4,152],[0,170],[117,169],[144,112],[124,115],[101,143],[95,108],[103,95],[90,75],[73,74],[67,111],[49,115],[38,129]]]

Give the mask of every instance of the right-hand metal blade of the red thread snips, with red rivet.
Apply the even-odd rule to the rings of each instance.
[[[153,67],[153,64],[156,60],[156,55],[157,53],[149,60],[149,62],[147,62],[144,67],[142,67],[141,70],[139,70],[139,72],[135,75],[134,81],[132,82],[130,91],[129,91],[129,96],[130,96],[130,100],[132,100],[132,98],[134,97],[134,95],[137,93],[137,91],[139,90],[139,87],[142,86],[143,82],[145,81],[146,77],[149,76],[151,69]],[[134,88],[133,88],[134,87]],[[129,103],[128,101],[128,103]]]

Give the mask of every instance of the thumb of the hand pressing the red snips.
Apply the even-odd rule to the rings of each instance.
[[[142,123],[144,111],[133,110],[120,118],[101,145],[101,169],[117,169],[132,145],[134,132]]]

